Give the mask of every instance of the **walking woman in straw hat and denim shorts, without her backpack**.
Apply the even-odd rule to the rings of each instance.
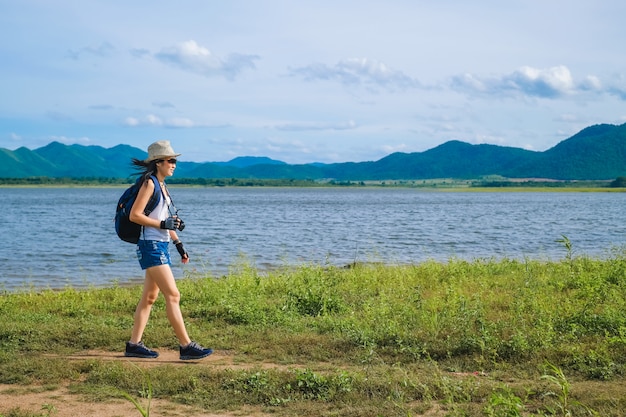
[[[180,156],[172,149],[170,142],[158,141],[148,147],[148,159],[133,159],[133,165],[142,171],[143,185],[130,212],[130,220],[142,227],[137,243],[137,257],[141,269],[146,271],[143,293],[137,305],[130,341],[126,342],[126,356],[136,358],[156,358],[159,354],[148,349],[141,341],[146,328],[152,305],[159,296],[165,297],[167,318],[174,328],[180,344],[180,359],[202,359],[213,353],[212,349],[203,348],[192,341],[187,334],[183,315],[180,311],[180,292],[170,267],[169,242],[176,245],[184,264],[189,262],[189,255],[176,234],[182,230],[184,223],[176,214],[172,214],[172,200],[165,187],[165,178],[174,174],[176,157]],[[157,207],[149,215],[144,208],[154,193],[155,183],[151,176],[160,183],[161,198]]]

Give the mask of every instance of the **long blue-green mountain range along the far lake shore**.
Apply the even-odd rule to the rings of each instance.
[[[0,148],[0,178],[126,178],[134,172],[131,158],[146,157],[145,151],[129,145],[103,148],[51,142],[35,150]],[[488,175],[555,180],[626,177],[626,124],[589,126],[542,152],[452,140],[424,152],[396,152],[377,161],[292,165],[267,157],[238,157],[228,162],[180,161],[176,168],[179,178],[366,181]]]

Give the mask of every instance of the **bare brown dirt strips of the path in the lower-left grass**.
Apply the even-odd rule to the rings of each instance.
[[[214,368],[242,368],[242,365],[233,364],[233,357],[226,352],[215,352],[202,361],[183,362],[178,358],[177,351],[159,351],[157,359],[126,358],[123,353],[86,351],[84,353],[64,356],[67,360],[99,359],[105,361],[126,361],[140,367],[154,367],[161,365],[188,366],[201,363],[203,366]],[[58,357],[50,355],[50,357]],[[266,365],[267,367],[274,367]],[[276,366],[278,367],[278,366]],[[140,401],[145,406],[145,401]],[[127,417],[141,416],[133,404],[124,399],[111,399],[107,402],[91,403],[80,395],[72,395],[68,386],[61,386],[54,390],[47,390],[41,386],[3,385],[0,384],[0,416],[9,414],[11,410],[19,408],[22,412],[30,412],[36,416],[50,417]],[[151,417],[263,417],[257,410],[239,410],[236,414],[207,413],[197,408],[153,399],[150,408]]]

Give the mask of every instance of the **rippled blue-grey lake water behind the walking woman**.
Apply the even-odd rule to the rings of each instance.
[[[0,289],[104,286],[143,274],[115,235],[121,188],[3,188]],[[192,262],[174,273],[220,276],[356,261],[605,257],[626,244],[625,193],[451,193],[410,189],[175,188]]]

